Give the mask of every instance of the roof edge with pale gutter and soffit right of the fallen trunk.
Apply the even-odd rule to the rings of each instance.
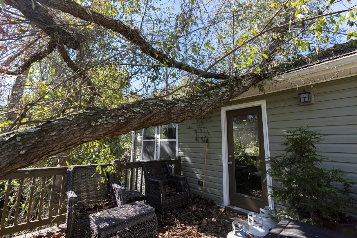
[[[323,50],[321,56],[302,56],[299,61],[286,64],[285,69],[283,74],[265,80],[264,93],[357,75],[357,47],[349,45],[348,42],[336,45]],[[252,86],[233,100],[261,94],[263,92],[259,91],[258,87]]]

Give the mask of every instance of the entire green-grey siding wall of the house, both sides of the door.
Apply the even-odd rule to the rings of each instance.
[[[314,93],[315,104],[300,106],[298,92]],[[357,80],[349,77],[317,83],[313,86],[262,94],[230,101],[225,106],[266,100],[270,155],[283,152],[280,144],[282,130],[311,126],[328,134],[326,141],[317,145],[326,168],[341,168],[357,181]],[[223,206],[222,134],[220,108],[203,119],[191,119],[178,126],[178,156],[182,157],[182,175],[187,177],[191,192],[202,194],[198,180],[203,179],[205,143],[208,138],[205,197]],[[197,131],[197,133],[195,132]],[[140,160],[141,131],[135,139],[136,158]],[[196,137],[198,142],[196,141]],[[357,187],[352,188],[357,198]]]

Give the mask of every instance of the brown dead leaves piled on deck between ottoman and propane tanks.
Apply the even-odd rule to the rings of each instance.
[[[165,213],[156,213],[158,225],[156,237],[227,237],[232,221],[246,220],[237,213],[218,207],[213,201],[191,194],[191,203]]]

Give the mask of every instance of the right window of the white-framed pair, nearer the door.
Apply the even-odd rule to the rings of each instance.
[[[177,156],[177,124],[159,128],[159,159],[173,159]]]

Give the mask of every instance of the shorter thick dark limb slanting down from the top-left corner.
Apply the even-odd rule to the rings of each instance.
[[[56,26],[56,22],[49,12],[40,4],[35,2],[35,8],[32,8],[31,0],[5,0],[5,3],[15,7],[24,16],[33,22],[37,27],[41,28],[50,37],[60,37],[68,47],[78,50],[80,47],[80,42],[75,36],[71,35],[62,27]]]

